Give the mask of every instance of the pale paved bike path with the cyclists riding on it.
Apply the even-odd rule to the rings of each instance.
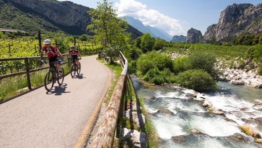
[[[0,148],[73,148],[111,82],[110,70],[83,57],[81,75],[0,104]],[[81,141],[81,140],[80,140]]]

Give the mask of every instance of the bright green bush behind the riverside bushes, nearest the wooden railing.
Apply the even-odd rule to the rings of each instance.
[[[158,68],[160,71],[165,68],[173,71],[173,61],[172,59],[164,54],[158,53],[156,51],[149,52],[147,54],[141,55],[137,59],[137,69],[144,75],[150,69]]]

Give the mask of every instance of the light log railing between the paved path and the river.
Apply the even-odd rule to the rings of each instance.
[[[123,96],[127,87],[128,60],[120,52],[119,60],[122,64],[123,71],[119,76],[117,85],[113,91],[111,100],[107,106],[105,117],[102,125],[99,126],[90,148],[112,148],[116,136],[120,134],[119,123],[123,118],[124,100]]]

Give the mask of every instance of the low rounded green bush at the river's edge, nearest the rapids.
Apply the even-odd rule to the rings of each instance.
[[[196,91],[209,91],[215,88],[213,78],[204,70],[188,70],[176,76],[176,83]]]

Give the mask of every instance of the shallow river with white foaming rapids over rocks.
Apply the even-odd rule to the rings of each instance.
[[[239,128],[248,124],[262,135],[261,122],[256,120],[262,117],[261,89],[219,81],[219,91],[199,93],[148,84],[134,76],[132,81],[162,139],[161,148],[262,148]],[[201,105],[203,98],[225,116],[208,112]],[[202,134],[191,134],[192,129]]]

